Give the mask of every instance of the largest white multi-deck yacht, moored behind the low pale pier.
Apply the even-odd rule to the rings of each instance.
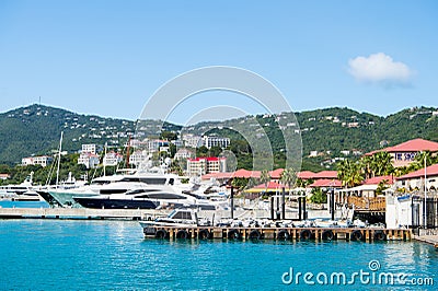
[[[48,190],[49,195],[64,207],[87,208],[157,208],[166,205],[164,200],[177,205],[182,203],[177,200],[193,203],[191,199],[201,198],[195,197],[196,191],[200,191],[198,185],[183,184],[177,175],[164,174],[159,167],[138,170],[134,174],[99,177],[83,187]],[[138,201],[152,200],[136,205],[131,201],[132,198]],[[107,205],[110,199],[112,203]],[[119,200],[130,202],[122,203]]]

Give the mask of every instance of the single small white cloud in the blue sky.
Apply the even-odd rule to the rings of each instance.
[[[384,86],[410,84],[413,71],[383,53],[356,57],[348,61],[348,72],[358,81]]]

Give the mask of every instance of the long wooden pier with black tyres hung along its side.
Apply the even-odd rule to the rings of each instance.
[[[218,228],[152,226],[143,229],[145,237],[164,240],[228,241],[411,241],[411,230],[356,228]]]

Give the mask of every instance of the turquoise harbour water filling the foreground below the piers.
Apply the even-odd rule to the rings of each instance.
[[[351,290],[436,290],[438,252],[414,242],[276,243],[145,240],[138,222],[0,220],[0,290],[303,290],[297,272],[381,271],[431,278],[434,286],[360,283]],[[374,261],[376,263],[376,261]],[[323,278],[323,277],[321,277]],[[313,281],[315,279],[313,278]]]

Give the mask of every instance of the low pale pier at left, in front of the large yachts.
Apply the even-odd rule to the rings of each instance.
[[[169,210],[90,208],[0,208],[0,219],[153,220]]]

